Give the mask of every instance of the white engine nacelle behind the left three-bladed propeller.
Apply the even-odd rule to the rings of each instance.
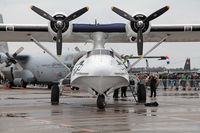
[[[66,18],[66,15],[64,15],[63,13],[57,13],[57,14],[53,15],[53,18],[56,20],[62,21]],[[72,23],[70,23],[70,22],[63,23],[63,27],[62,27],[62,37],[63,38],[66,38],[71,35],[72,27],[73,27]],[[53,36],[53,39],[56,40],[57,32],[58,32],[58,27],[56,25],[56,22],[52,22],[52,21],[49,22],[48,31]]]

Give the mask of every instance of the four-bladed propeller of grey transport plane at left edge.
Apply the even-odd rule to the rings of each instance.
[[[0,69],[7,67],[7,66],[10,66],[11,64],[14,64],[17,67],[18,70],[20,70],[21,72],[23,71],[22,66],[16,60],[16,56],[24,50],[23,47],[20,47],[13,55],[10,55],[4,49],[3,45],[0,45],[0,50],[7,56],[7,61],[0,64]]]

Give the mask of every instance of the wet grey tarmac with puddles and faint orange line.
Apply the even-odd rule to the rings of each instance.
[[[149,92],[147,92],[149,94]],[[147,94],[147,95],[148,95]],[[0,89],[0,133],[199,133],[200,91],[161,91],[158,107],[108,97],[105,110],[84,91],[50,104],[47,89]]]

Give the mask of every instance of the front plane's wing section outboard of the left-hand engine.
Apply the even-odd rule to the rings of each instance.
[[[39,41],[51,42],[52,36],[48,32],[47,25],[19,25],[0,24],[0,40],[5,42],[29,42],[33,35]]]

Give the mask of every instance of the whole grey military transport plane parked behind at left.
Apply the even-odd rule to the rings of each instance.
[[[68,67],[71,67],[76,55],[76,52],[68,52],[60,60]],[[10,88],[15,86],[26,88],[27,84],[45,84],[50,89],[54,82],[63,79],[70,72],[65,66],[56,62],[46,53],[37,55],[20,54],[11,58],[10,56],[6,57],[4,54],[0,54],[0,56],[0,61],[5,64],[5,67],[1,68],[1,72],[8,80]],[[15,62],[20,67],[16,66]]]

